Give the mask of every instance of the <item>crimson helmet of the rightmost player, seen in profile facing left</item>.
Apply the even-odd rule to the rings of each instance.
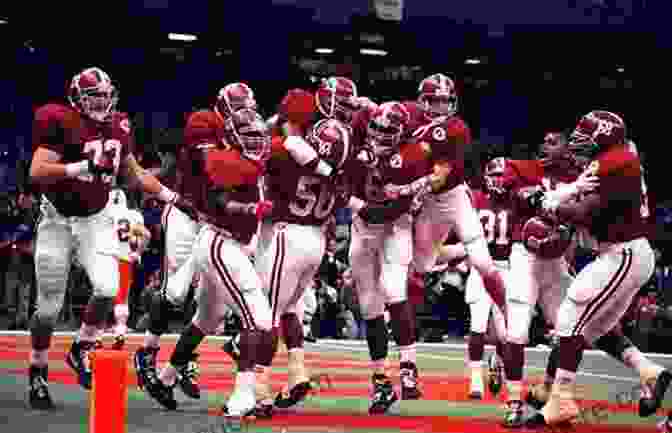
[[[625,143],[625,122],[609,111],[595,110],[581,118],[569,138],[577,157],[592,159],[599,152]]]

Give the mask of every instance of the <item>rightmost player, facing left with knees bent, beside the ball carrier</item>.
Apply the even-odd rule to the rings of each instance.
[[[596,110],[583,116],[570,149],[577,159],[590,162],[584,174],[597,177],[599,186],[578,200],[561,202],[543,194],[537,202],[549,218],[588,228],[599,243],[599,255],[577,275],[560,305],[555,381],[530,424],[555,425],[578,416],[574,387],[586,344],[614,328],[654,270],[641,214],[641,164],[628,150],[625,133],[623,119],[614,113]]]

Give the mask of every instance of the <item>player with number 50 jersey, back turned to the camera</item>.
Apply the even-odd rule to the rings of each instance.
[[[317,122],[306,140],[335,170],[348,160],[350,133],[338,120]],[[268,287],[274,328],[280,328],[287,345],[287,391],[275,398],[275,406],[288,408],[302,401],[311,388],[304,365],[304,332],[298,311],[303,305],[299,307],[299,301],[325,254],[327,223],[333,210],[346,204],[346,194],[339,179],[315,175],[301,166],[283,141],[287,140],[276,137],[267,164],[265,185],[273,213],[262,225],[260,243],[265,247],[260,249],[255,265]],[[258,371],[258,409],[268,413],[273,407],[270,366],[261,366]]]

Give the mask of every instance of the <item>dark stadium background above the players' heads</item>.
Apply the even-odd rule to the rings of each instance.
[[[457,81],[481,149],[525,156],[544,132],[608,109],[625,117],[646,154],[655,200],[672,198],[656,177],[669,160],[664,2],[407,0],[401,23],[372,17],[366,0],[15,3],[0,10],[8,21],[0,25],[5,158],[30,157],[32,110],[62,98],[88,66],[118,83],[122,109],[150,150],[179,140],[185,113],[209,105],[227,82],[252,85],[270,115],[289,87],[326,74],[352,76],[380,101],[414,98],[420,79],[444,72]],[[198,40],[169,41],[169,32]],[[335,53],[315,54],[320,47]],[[389,55],[363,56],[361,47]]]

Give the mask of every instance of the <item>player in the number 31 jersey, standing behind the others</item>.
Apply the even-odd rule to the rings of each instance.
[[[516,209],[512,206],[510,189],[503,185],[506,160],[495,158],[485,165],[483,173],[484,190],[472,190],[474,209],[483,224],[485,238],[495,265],[506,275],[509,270],[511,255],[512,231],[511,222],[515,218]],[[481,399],[484,393],[483,349],[485,346],[488,325],[494,327],[496,354],[488,362],[488,388],[497,394],[502,385],[502,360],[506,341],[506,324],[502,313],[493,308],[492,298],[483,287],[483,279],[478,272],[471,272],[467,279],[465,301],[471,313],[471,334],[469,335],[469,364],[471,369],[471,385],[469,397]]]

